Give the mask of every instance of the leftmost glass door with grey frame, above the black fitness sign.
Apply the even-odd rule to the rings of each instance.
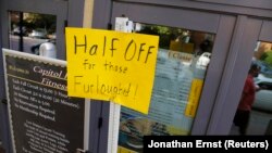
[[[40,44],[50,42],[55,46],[57,59],[65,59],[67,1],[4,0],[2,4],[4,48],[39,54]]]

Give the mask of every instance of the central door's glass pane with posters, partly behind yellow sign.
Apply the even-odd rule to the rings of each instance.
[[[143,152],[144,136],[189,135],[215,35],[136,24],[136,33],[160,36],[148,115],[121,107],[119,152]]]

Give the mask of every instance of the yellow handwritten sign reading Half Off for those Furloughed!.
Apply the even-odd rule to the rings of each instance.
[[[67,93],[113,101],[147,114],[158,36],[66,28]]]

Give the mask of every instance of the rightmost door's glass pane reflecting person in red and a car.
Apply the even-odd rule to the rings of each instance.
[[[252,63],[260,67],[260,73],[254,78],[257,91],[254,93],[254,104],[248,126],[239,128],[238,119],[234,119],[230,135],[271,135],[272,126],[272,42],[258,41],[254,52]],[[236,117],[237,118],[237,117]],[[246,120],[246,119],[245,119]]]

